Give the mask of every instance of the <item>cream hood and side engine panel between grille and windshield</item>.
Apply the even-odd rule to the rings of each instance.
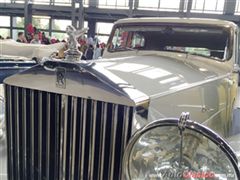
[[[228,136],[236,77],[231,61],[172,52],[137,52],[135,56],[96,62],[128,81],[150,97],[148,121],[177,117],[183,111],[191,118]]]

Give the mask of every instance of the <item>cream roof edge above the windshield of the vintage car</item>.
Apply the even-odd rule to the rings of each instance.
[[[220,19],[207,18],[161,18],[161,17],[147,17],[147,18],[126,18],[115,22],[117,24],[127,23],[176,23],[176,24],[202,24],[202,25],[218,25],[218,26],[232,26],[237,28],[237,25],[230,21]]]

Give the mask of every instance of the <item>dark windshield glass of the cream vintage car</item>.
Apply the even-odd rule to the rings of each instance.
[[[229,44],[230,31],[224,27],[124,25],[115,28],[108,50],[172,51],[229,59]]]

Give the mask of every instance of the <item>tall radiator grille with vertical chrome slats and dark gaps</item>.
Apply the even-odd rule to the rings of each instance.
[[[133,107],[5,86],[9,180],[120,179]]]

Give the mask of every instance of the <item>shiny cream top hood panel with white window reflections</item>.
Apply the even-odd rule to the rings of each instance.
[[[231,70],[227,62],[172,52],[139,52],[95,62],[150,97],[207,83]]]

